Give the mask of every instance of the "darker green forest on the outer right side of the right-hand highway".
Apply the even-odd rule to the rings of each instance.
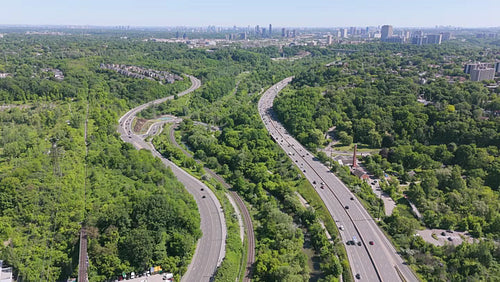
[[[417,221],[400,201],[383,226],[424,279],[497,280],[499,88],[458,78],[466,78],[463,62],[495,61],[500,51],[451,43],[384,47],[364,46],[331,66],[296,75],[274,109],[313,150],[328,142],[332,127],[339,145],[377,149],[364,157],[366,167],[378,178],[392,174],[384,190],[395,199],[406,195],[423,214]],[[481,242],[434,247],[412,238],[421,225],[467,231]]]

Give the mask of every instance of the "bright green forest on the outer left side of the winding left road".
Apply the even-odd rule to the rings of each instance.
[[[17,39],[2,41],[10,55],[1,68],[13,75],[0,79],[10,105],[0,111],[0,258],[23,281],[75,277],[83,224],[91,281],[151,265],[184,272],[201,235],[196,204],[159,160],[122,142],[116,125],[129,107],[189,81],[159,85],[101,71],[100,62],[130,62],[101,56],[99,40]]]

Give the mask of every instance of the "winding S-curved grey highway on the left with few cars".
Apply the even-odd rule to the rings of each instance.
[[[193,76],[189,76],[189,78],[192,83],[191,87],[179,93],[178,96],[190,93],[200,87],[201,82],[197,78]],[[163,158],[151,143],[144,141],[143,136],[135,134],[132,129],[132,123],[137,113],[168,99],[173,99],[173,96],[158,99],[128,111],[119,120],[118,132],[123,141],[131,143],[137,149],[150,150],[154,156],[160,158],[167,167],[170,167],[177,179],[184,184],[187,191],[193,195],[200,212],[203,235],[198,241],[191,264],[181,281],[210,281],[225,256],[227,229],[222,206],[212,190],[205,184]]]

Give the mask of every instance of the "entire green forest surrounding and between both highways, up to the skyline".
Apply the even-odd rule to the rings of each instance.
[[[256,281],[337,281],[341,274],[351,279],[333,220],[258,116],[260,94],[291,75],[292,85],[274,108],[297,139],[316,149],[335,127],[342,145],[355,142],[376,150],[364,158],[376,176],[398,176],[382,187],[398,207],[381,224],[422,278],[495,281],[500,276],[495,241],[500,237],[500,88],[460,82],[468,78],[463,63],[499,59],[494,45],[231,46],[207,52],[146,42],[143,32],[123,35],[9,32],[0,39],[0,72],[9,74],[0,79],[5,106],[0,109],[0,259],[14,267],[18,279],[75,277],[82,225],[89,235],[90,281],[151,265],[180,275],[201,235],[196,204],[171,171],[116,132],[128,109],[174,95],[188,88],[189,80],[161,85],[100,69],[101,63],[202,80],[195,93],[141,116],[183,117],[179,133],[185,146],[249,204],[256,228]],[[305,51],[310,55],[296,61],[270,59]],[[56,78],[53,69],[64,78]],[[153,141],[163,155],[201,170],[165,134]],[[334,169],[347,185],[361,187],[358,193],[375,213],[380,201],[368,186],[344,168]],[[295,192],[312,207],[303,207]],[[409,212],[403,195],[417,205],[422,221]],[[424,227],[468,231],[480,242],[434,247],[412,236]],[[216,280],[225,281],[221,276]]]

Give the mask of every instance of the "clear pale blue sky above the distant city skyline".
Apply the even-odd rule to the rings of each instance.
[[[2,0],[0,24],[500,26],[500,0]]]

